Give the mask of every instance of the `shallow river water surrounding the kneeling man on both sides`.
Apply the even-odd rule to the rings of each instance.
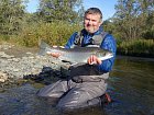
[[[118,57],[109,79],[113,102],[62,113],[35,95],[40,83],[24,83],[0,93],[0,115],[154,115],[154,59]]]

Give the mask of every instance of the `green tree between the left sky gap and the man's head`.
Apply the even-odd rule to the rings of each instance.
[[[37,13],[45,22],[55,20],[74,22],[81,10],[81,0],[40,0]]]

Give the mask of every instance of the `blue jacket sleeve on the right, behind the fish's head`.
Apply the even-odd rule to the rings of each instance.
[[[103,60],[102,64],[98,66],[99,71],[109,72],[112,70],[116,59],[117,44],[114,37],[110,34],[107,35],[103,42],[101,43],[100,47],[113,53],[112,58]]]

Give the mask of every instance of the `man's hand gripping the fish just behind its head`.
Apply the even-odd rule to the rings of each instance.
[[[102,61],[101,61],[99,58],[97,58],[95,55],[91,55],[91,56],[88,58],[87,62],[88,62],[89,65],[101,65]]]

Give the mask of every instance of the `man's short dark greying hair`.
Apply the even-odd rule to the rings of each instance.
[[[102,13],[98,8],[89,8],[86,12],[85,12],[85,16],[87,14],[99,14],[100,15],[100,20],[102,20]]]

